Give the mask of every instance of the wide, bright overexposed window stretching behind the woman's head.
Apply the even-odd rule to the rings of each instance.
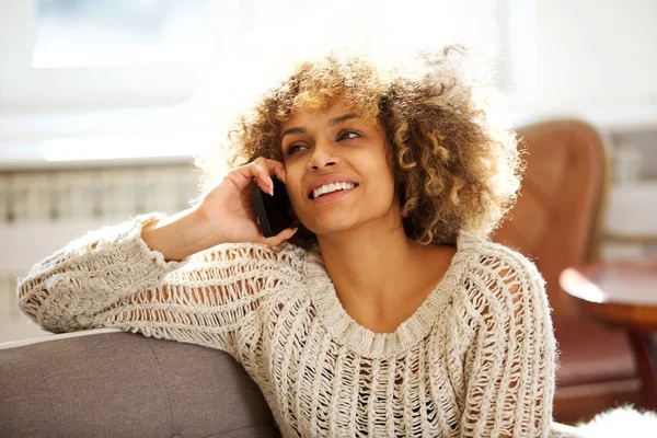
[[[249,79],[254,73],[250,69],[266,70],[266,62],[292,47],[339,38],[385,49],[473,43],[496,60],[502,87],[518,87],[533,74],[527,67],[531,4],[8,0],[0,7],[1,104],[89,108],[180,102],[195,90],[199,61],[224,60],[234,68],[223,66],[220,74]]]

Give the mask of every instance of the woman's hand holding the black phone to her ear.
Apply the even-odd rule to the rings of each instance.
[[[280,161],[260,157],[230,171],[223,181],[205,196],[198,206],[198,214],[217,230],[222,243],[255,242],[274,246],[295,234],[297,230],[288,228],[275,237],[265,238],[256,222],[251,193],[257,182],[264,192],[273,194],[272,175],[287,183],[285,166]]]

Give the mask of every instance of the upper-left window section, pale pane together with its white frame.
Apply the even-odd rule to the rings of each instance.
[[[0,7],[3,108],[181,102],[206,49],[206,0],[9,0]]]

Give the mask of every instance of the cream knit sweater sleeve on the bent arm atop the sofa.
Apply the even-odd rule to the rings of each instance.
[[[90,232],[37,263],[18,281],[20,309],[50,332],[116,327],[234,355],[238,332],[250,331],[289,252],[223,244],[165,262],[141,239],[142,227],[162,218]]]

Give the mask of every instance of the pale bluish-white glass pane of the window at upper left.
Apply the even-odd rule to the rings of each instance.
[[[204,1],[38,0],[33,68],[186,64],[207,44]]]

